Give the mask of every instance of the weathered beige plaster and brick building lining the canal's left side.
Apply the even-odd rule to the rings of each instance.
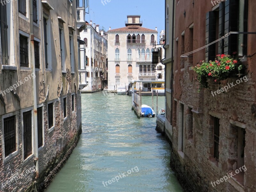
[[[82,131],[76,1],[0,9],[0,187],[42,190]]]

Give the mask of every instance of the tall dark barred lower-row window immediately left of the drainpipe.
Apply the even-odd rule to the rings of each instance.
[[[32,113],[27,111],[23,113],[23,146],[24,159],[32,154]]]

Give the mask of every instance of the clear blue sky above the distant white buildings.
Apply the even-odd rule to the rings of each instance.
[[[127,15],[140,15],[142,27],[164,30],[164,0],[110,0],[103,5],[101,0],[89,0],[89,14],[85,18],[90,23],[99,24],[106,30],[125,27]],[[158,35],[160,35],[158,33]],[[159,38],[158,38],[159,39]]]

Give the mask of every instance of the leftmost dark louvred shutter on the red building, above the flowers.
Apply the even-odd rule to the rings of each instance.
[[[206,28],[205,28],[205,44],[210,44],[215,41],[216,34],[216,15],[213,11],[206,13]],[[205,61],[215,59],[215,44],[205,48]]]

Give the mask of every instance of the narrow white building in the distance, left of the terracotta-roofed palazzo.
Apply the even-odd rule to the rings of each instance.
[[[82,92],[95,92],[107,87],[107,55],[108,40],[107,33],[99,25],[86,23],[87,28],[80,32],[81,40],[85,42],[86,58],[85,73],[82,73],[83,79],[86,79],[87,86],[82,88]],[[83,55],[81,55],[83,57]]]

